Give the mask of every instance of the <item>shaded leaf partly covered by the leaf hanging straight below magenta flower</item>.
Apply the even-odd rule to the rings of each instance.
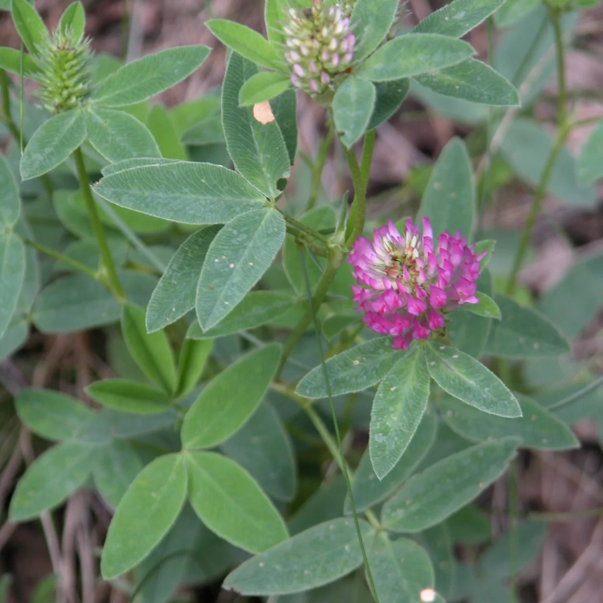
[[[412,475],[434,443],[436,428],[437,417],[435,412],[428,408],[402,457],[390,473],[381,480],[374,474],[369,450],[365,451],[352,481],[352,496],[358,513],[385,500]],[[348,496],[344,504],[344,513],[346,515],[352,513]]]

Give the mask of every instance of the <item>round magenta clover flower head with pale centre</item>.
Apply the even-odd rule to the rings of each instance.
[[[362,321],[380,335],[393,335],[392,347],[405,350],[412,339],[428,339],[444,327],[444,314],[475,296],[479,260],[475,244],[467,246],[459,231],[444,231],[434,245],[431,223],[423,233],[410,220],[401,235],[391,220],[375,230],[373,241],[359,238],[348,262],[359,286],[353,300],[365,313]]]

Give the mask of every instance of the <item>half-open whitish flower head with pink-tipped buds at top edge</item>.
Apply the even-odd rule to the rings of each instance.
[[[336,75],[349,68],[356,43],[350,25],[353,4],[314,2],[312,8],[287,11],[285,59],[293,68],[295,87],[320,96],[332,87]]]

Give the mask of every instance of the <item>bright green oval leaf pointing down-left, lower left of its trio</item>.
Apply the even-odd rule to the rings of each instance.
[[[186,499],[183,458],[168,454],[148,464],[122,496],[101,557],[109,580],[140,563],[175,522]]]

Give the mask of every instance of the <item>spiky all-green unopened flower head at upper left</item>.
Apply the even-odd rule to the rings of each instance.
[[[37,96],[51,113],[77,107],[92,86],[90,39],[57,30],[38,45],[37,63],[42,70]]]

